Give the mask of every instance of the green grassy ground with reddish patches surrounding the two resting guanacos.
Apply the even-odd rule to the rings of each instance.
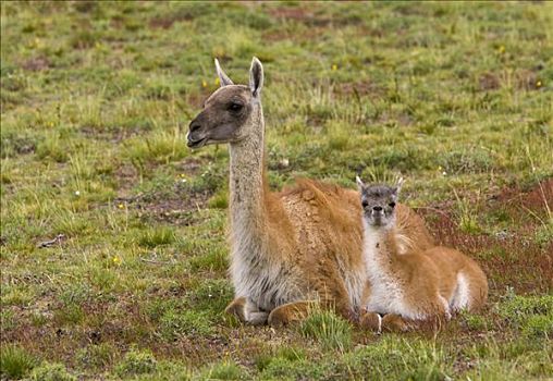
[[[551,3],[2,2],[1,377],[551,377],[552,25]],[[228,151],[184,134],[212,58],[245,82],[254,54],[274,188],[402,172],[487,310],[382,337],[222,315]]]

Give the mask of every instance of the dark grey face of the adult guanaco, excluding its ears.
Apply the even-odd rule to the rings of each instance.
[[[251,91],[243,85],[219,88],[205,102],[204,110],[191,122],[188,147],[237,142],[245,137],[242,126],[251,114]]]

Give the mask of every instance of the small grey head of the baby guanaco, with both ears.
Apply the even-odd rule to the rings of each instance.
[[[395,223],[395,204],[403,184],[400,179],[397,185],[365,185],[356,177],[361,195],[362,214],[367,223],[377,228],[391,228]]]

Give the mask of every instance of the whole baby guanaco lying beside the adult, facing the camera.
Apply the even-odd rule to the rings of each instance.
[[[486,303],[488,281],[472,259],[442,246],[417,249],[416,242],[397,234],[395,206],[403,180],[396,186],[356,180],[367,271],[361,325],[406,331],[417,321],[450,319],[452,312]]]

